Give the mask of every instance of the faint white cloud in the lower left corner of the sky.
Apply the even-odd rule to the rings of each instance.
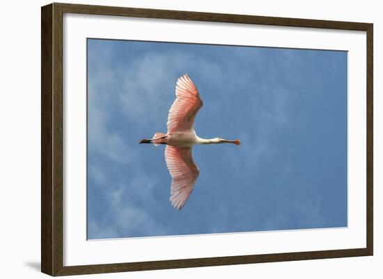
[[[104,189],[102,193],[108,206],[102,216],[88,220],[91,239],[166,234],[164,225],[146,211],[145,205],[155,207],[157,204],[153,190],[159,184],[144,171],[114,186],[107,182],[97,186]]]

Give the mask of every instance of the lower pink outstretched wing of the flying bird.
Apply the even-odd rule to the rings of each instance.
[[[173,177],[170,192],[171,205],[180,210],[194,189],[199,170],[194,163],[191,147],[166,145],[165,160],[169,173]]]

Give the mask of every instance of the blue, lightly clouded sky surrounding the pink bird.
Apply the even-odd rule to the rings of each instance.
[[[204,105],[178,212],[164,146],[175,81]],[[347,226],[347,52],[88,39],[88,239]]]

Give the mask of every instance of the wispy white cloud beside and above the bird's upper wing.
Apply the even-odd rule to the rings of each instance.
[[[158,118],[158,115],[164,115],[164,112],[167,115],[175,99],[176,79],[194,71],[201,75],[205,73],[211,79],[220,74],[221,68],[198,56],[149,52],[126,65],[122,71],[123,86],[118,97],[126,115],[130,118],[145,117],[155,125],[165,127],[166,119]]]

